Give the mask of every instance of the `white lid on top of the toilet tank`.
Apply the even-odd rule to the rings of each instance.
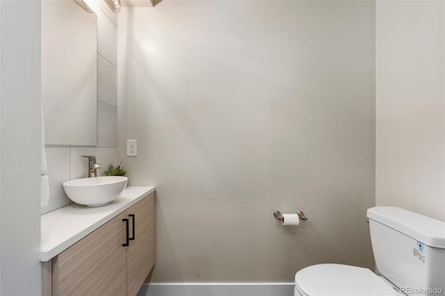
[[[445,249],[445,222],[395,206],[369,208],[367,216],[425,245]]]

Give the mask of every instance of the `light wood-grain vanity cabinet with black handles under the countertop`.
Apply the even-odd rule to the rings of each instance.
[[[154,192],[43,262],[43,292],[136,295],[153,266]]]

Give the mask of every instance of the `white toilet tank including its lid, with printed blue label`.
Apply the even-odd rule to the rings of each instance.
[[[403,208],[369,208],[377,271],[407,295],[445,295],[445,222]]]

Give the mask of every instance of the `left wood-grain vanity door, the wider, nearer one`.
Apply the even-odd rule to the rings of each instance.
[[[126,295],[125,212],[53,259],[53,295]]]

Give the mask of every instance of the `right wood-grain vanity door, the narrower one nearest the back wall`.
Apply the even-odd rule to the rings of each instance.
[[[134,215],[134,217],[129,216]],[[154,265],[154,193],[127,210],[130,236],[134,240],[127,247],[127,295],[136,295]]]

